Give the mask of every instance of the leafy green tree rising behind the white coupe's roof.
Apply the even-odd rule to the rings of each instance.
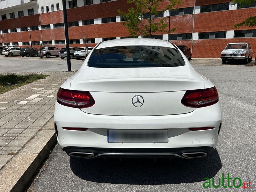
[[[162,2],[168,2],[164,10],[158,11],[158,7]],[[127,13],[118,10],[121,18],[125,20],[122,24],[128,29],[131,37],[138,37],[140,35],[151,38],[151,34],[157,31],[166,32],[168,23],[165,22],[166,17],[156,21],[155,16],[172,9],[181,0],[128,0],[133,7],[128,9]],[[147,20],[141,20],[145,13],[148,15]],[[140,28],[141,25],[141,28]],[[170,32],[176,28],[170,29]],[[167,31],[168,32],[168,31]]]

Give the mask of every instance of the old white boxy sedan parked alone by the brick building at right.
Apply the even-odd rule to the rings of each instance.
[[[242,60],[245,64],[252,61],[253,51],[249,43],[229,43],[221,52],[222,63],[231,60]]]

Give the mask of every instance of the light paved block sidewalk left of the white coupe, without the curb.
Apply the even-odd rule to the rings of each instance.
[[[45,79],[0,95],[0,171],[52,118],[58,89],[74,73],[47,73]]]

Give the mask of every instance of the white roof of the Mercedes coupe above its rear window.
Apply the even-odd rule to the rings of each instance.
[[[147,46],[161,46],[175,48],[172,43],[160,40],[160,39],[148,39],[148,38],[126,38],[126,39],[113,39],[108,41],[103,41],[99,44],[97,49],[106,47],[116,47],[116,46],[129,46],[129,45],[147,45]]]

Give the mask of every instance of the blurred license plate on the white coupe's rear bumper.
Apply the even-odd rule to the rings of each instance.
[[[108,130],[108,143],[167,143],[168,130]]]

